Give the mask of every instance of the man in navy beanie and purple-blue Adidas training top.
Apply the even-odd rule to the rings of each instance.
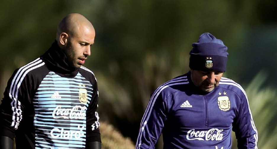
[[[136,149],[257,149],[257,129],[244,89],[224,78],[227,47],[210,33],[192,44],[186,74],[159,86],[141,120]]]

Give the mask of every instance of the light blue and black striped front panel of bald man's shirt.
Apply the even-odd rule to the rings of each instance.
[[[50,71],[33,98],[36,149],[84,149],[86,110],[93,92],[93,85],[80,73],[64,78]]]

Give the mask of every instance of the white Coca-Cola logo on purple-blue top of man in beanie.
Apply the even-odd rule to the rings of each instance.
[[[204,131],[195,131],[195,129],[191,129],[188,131],[186,138],[188,140],[220,141],[223,139],[223,134],[221,132],[223,132],[223,129],[211,128]]]

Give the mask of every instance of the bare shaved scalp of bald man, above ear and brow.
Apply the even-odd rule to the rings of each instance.
[[[94,27],[83,15],[77,13],[68,14],[59,23],[56,40],[59,41],[62,32],[74,36],[78,34],[80,29],[94,30]]]

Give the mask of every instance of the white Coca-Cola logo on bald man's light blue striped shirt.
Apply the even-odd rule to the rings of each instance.
[[[62,106],[59,105],[54,109],[52,116],[54,119],[84,119],[86,116],[86,107],[74,106],[73,108],[62,108]]]

